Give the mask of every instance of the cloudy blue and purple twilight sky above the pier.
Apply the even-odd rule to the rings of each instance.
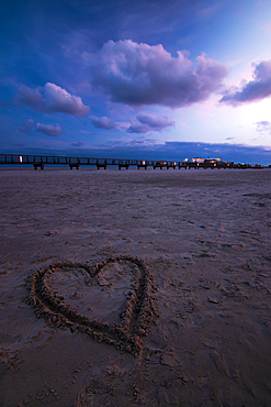
[[[3,0],[0,153],[271,164],[270,0]]]

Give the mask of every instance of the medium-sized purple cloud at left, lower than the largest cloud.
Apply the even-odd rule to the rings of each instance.
[[[70,95],[67,90],[50,82],[45,84],[44,88],[36,89],[20,85],[18,92],[15,101],[35,111],[86,116],[90,110],[82,103],[79,96]]]

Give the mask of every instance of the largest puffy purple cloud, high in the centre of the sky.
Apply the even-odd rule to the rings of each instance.
[[[196,62],[194,69],[185,52],[172,57],[161,44],[109,41],[91,66],[92,86],[122,103],[185,107],[206,100],[227,75],[204,55]]]

